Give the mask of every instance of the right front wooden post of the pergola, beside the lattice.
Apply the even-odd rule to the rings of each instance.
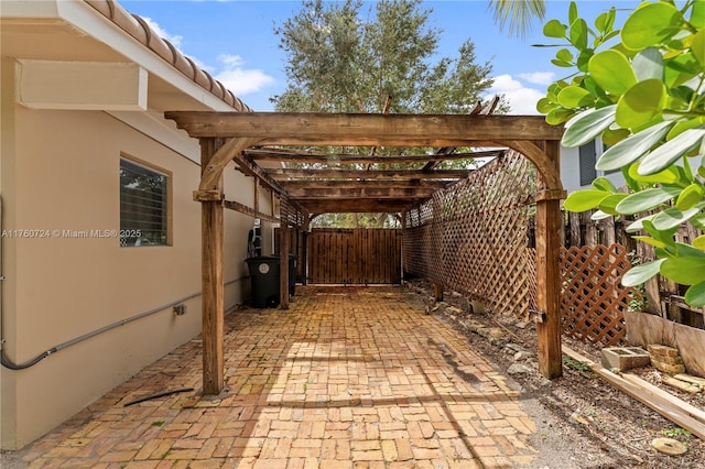
[[[560,170],[560,143],[545,142],[545,154]],[[561,352],[561,194],[540,192],[536,200],[536,306],[540,317],[539,371],[547,379],[563,374]]]

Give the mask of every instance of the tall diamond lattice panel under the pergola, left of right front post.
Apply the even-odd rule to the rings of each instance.
[[[410,210],[405,269],[497,313],[528,316],[535,307],[527,248],[532,171],[525,157],[510,151]]]

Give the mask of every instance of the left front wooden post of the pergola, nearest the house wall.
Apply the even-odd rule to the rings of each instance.
[[[217,150],[216,139],[200,139],[202,175]],[[223,175],[216,189],[223,190]],[[203,393],[224,386],[223,200],[200,200],[203,288]]]

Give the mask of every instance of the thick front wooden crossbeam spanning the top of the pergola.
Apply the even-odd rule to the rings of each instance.
[[[253,138],[261,145],[469,146],[474,141],[561,140],[542,116],[170,111],[191,137]]]

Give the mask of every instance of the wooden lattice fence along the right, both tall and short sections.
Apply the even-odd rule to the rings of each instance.
[[[509,152],[404,217],[404,270],[525,319],[536,309],[535,251],[528,221],[531,164]],[[561,248],[565,335],[601,346],[625,340],[622,312],[639,293],[619,284],[630,269],[619,244]]]

